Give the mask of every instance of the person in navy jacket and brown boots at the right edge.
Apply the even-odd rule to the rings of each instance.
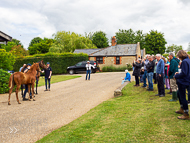
[[[178,116],[178,119],[182,120],[190,120],[189,118],[189,108],[186,100],[186,89],[189,88],[190,85],[190,59],[188,54],[184,50],[180,50],[177,53],[177,57],[182,61],[181,63],[181,71],[177,72],[174,78],[177,80],[178,85],[178,98],[180,103],[180,110],[176,111],[178,114],[183,114],[182,116]]]

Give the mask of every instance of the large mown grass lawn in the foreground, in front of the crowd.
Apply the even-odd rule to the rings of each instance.
[[[174,112],[179,103],[168,102],[169,94],[155,96],[156,87],[148,92],[133,84],[122,97],[103,102],[38,142],[190,142],[190,120],[179,120]]]

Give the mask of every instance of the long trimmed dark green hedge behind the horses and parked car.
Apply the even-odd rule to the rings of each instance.
[[[50,62],[50,67],[52,68],[53,74],[63,74],[67,73],[67,67],[75,65],[81,61],[87,61],[87,54],[75,54],[75,53],[46,53],[46,54],[36,54],[33,56],[26,56],[23,58],[17,58],[14,64],[13,70],[15,72],[19,71],[23,64],[38,62],[43,60],[46,64]]]

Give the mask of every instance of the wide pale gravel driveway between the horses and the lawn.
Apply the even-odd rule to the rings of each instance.
[[[39,87],[36,101],[17,104],[12,94],[11,106],[7,105],[8,94],[0,95],[0,142],[39,140],[112,98],[124,76],[124,72],[96,73],[91,75],[90,81],[85,81],[82,74],[81,78],[52,84],[50,92]]]

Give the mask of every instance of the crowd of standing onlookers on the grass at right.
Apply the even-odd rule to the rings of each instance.
[[[154,91],[153,85],[157,84],[158,94],[156,96],[159,97],[165,97],[165,89],[170,90],[168,94],[172,94],[172,99],[169,101],[179,100],[180,103],[180,110],[176,113],[182,114],[182,116],[178,116],[178,119],[190,119],[188,114],[188,104],[190,105],[190,56],[184,50],[180,50],[176,56],[170,52],[167,58],[161,54],[156,54],[155,56],[146,55],[145,59],[139,58],[134,61],[133,76],[135,76],[136,81],[134,86],[140,86],[141,81],[143,82],[142,88]],[[186,91],[188,100],[186,100]]]

